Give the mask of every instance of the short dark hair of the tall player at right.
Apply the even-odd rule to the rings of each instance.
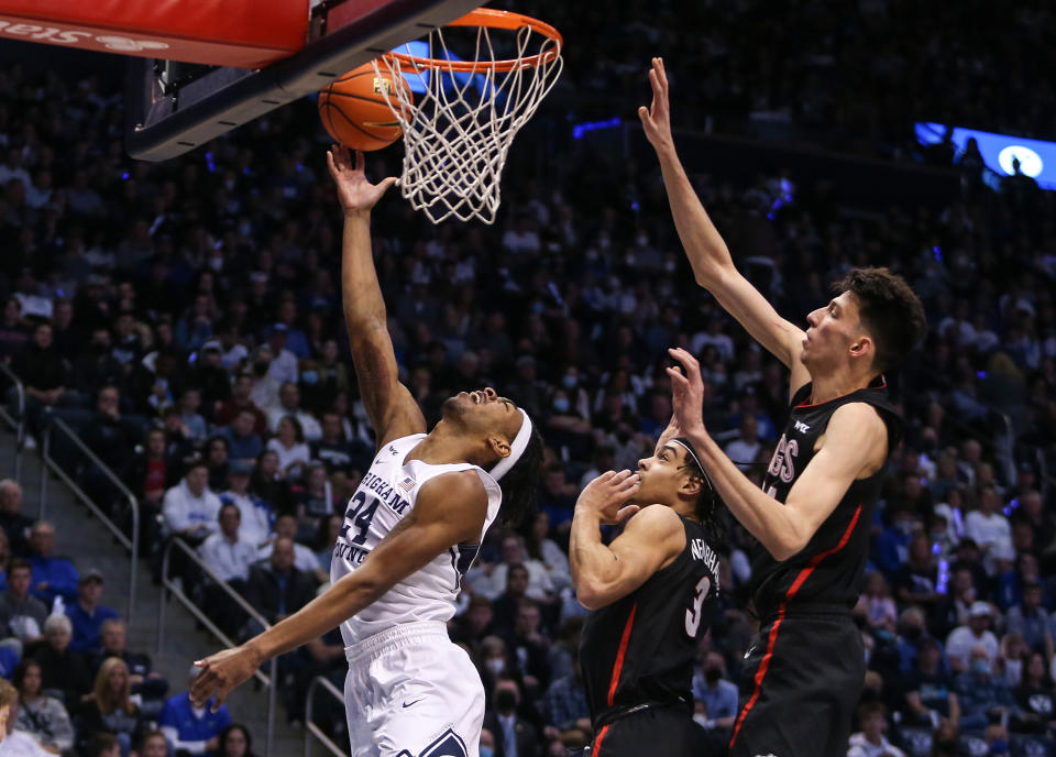
[[[927,331],[920,298],[888,268],[854,268],[833,289],[850,292],[858,300],[858,317],[876,345],[878,373],[901,363]]]

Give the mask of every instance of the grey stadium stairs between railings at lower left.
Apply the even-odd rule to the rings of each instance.
[[[15,436],[7,424],[0,424],[0,478],[14,473]],[[44,467],[38,450],[22,454],[22,512],[29,517],[40,513],[41,476]],[[77,501],[70,490],[50,474],[47,481],[46,517],[55,524],[56,555],[68,557],[77,570],[98,568],[103,577],[101,603],[113,607],[125,618],[129,596],[129,553],[113,535]],[[151,581],[147,562],[140,560],[136,577],[135,611],[128,628],[128,648],[151,656],[154,670],[169,682],[168,695],[186,689],[187,672],[194,660],[221,648],[208,632],[197,627],[195,618],[176,600],[169,597],[165,615],[165,647],[157,651],[158,607],[161,586]],[[125,618],[128,619],[128,618]],[[264,754],[267,727],[267,690],[251,681],[242,684],[228,699],[228,710],[237,723],[245,725],[253,735],[253,750]],[[282,704],[276,705],[272,757],[288,757],[304,753],[304,729],[286,723]],[[312,754],[326,749],[315,745]]]

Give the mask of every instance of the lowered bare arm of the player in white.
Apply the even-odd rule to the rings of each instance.
[[[232,689],[267,660],[319,638],[449,547],[480,539],[486,514],[487,493],[473,471],[447,473],[427,482],[415,508],[356,570],[242,646],[196,662],[202,670],[191,687],[191,701],[200,705],[216,694],[216,711]]]

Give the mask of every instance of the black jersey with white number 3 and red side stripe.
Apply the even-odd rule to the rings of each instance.
[[[718,594],[718,556],[701,524],[682,518],[682,526],[685,547],[669,566],[586,617],[580,665],[595,724],[638,704],[692,704],[696,644]]]

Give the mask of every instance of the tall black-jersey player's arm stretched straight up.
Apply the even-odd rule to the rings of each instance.
[[[652,85],[652,103],[649,108],[639,108],[638,117],[660,160],[671,216],[693,266],[693,276],[756,341],[792,370],[792,386],[798,390],[809,381],[806,369],[800,362],[805,334],[794,323],[781,318],[759,290],[737,271],[726,242],[693,190],[674,150],[668,77],[661,58],[652,59],[649,84]]]

